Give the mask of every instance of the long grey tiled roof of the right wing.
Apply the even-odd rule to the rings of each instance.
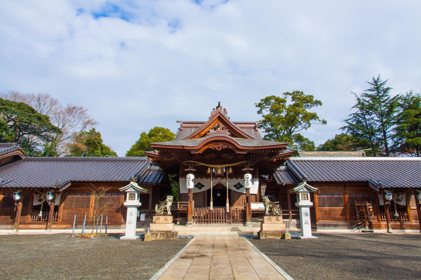
[[[419,188],[421,158],[311,158],[295,157],[287,166],[309,182],[362,181],[384,188]]]

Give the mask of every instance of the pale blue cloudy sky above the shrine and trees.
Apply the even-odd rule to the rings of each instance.
[[[350,91],[381,74],[392,93],[421,91],[419,1],[7,1],[0,8],[0,91],[49,92],[89,108],[120,156],[142,131],[233,121],[302,90],[338,133]]]

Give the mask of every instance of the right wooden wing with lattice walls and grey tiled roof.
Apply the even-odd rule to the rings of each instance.
[[[291,158],[271,176],[265,194],[280,201],[284,219],[299,224],[295,194],[288,189],[305,180],[317,188],[311,194],[312,228],[331,230],[420,231],[421,168],[418,158]],[[390,190],[392,200],[385,201]],[[370,215],[364,216],[358,204],[364,203]]]

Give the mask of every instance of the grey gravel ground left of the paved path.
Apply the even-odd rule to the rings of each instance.
[[[192,240],[144,242],[118,236],[0,235],[0,278],[147,280]]]

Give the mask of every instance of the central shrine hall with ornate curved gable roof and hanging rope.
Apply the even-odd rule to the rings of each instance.
[[[176,139],[151,143],[154,151],[146,155],[177,175],[187,223],[251,223],[251,203],[261,201],[259,177],[285,163],[293,153],[285,151],[288,143],[263,140],[259,122],[232,122],[220,103],[207,121],[177,122]],[[191,188],[188,176],[194,176]]]

